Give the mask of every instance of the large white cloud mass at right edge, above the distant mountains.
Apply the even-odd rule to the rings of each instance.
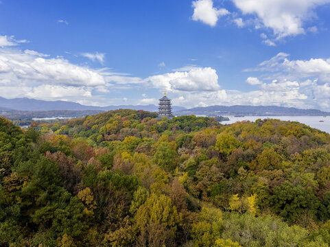
[[[290,54],[281,52],[261,62],[255,69],[246,71],[263,72],[259,76],[263,82],[259,78],[248,79],[246,82],[261,83],[257,84],[257,91],[243,93],[244,100],[255,104],[268,102],[281,106],[330,110],[330,58],[290,60]]]

